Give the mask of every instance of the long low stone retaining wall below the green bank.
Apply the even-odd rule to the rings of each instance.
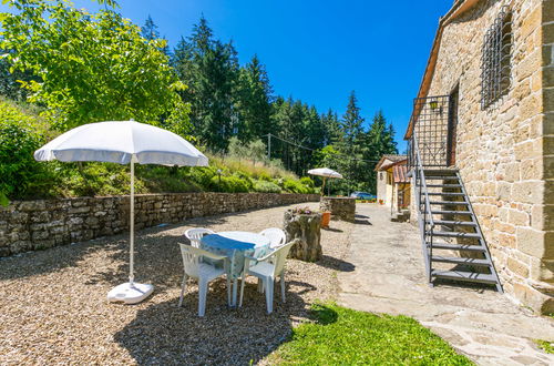
[[[318,194],[142,194],[135,196],[135,227],[317,201]],[[129,196],[14,201],[8,207],[0,207],[0,256],[127,231],[129,210]]]

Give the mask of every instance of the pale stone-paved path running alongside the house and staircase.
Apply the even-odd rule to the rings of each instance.
[[[389,209],[360,204],[370,225],[350,236],[339,273],[339,303],[359,311],[404,314],[482,365],[553,365],[554,355],[531,339],[554,340],[554,322],[533,316],[494,291],[438,285],[429,287],[417,228],[389,221]]]

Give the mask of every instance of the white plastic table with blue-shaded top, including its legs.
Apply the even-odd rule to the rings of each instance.
[[[268,237],[249,232],[220,232],[201,238],[201,247],[229,258],[227,275],[233,278],[233,306],[237,304],[237,278],[244,267],[244,256],[263,256],[269,250]]]

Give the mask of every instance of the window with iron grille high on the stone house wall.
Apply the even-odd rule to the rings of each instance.
[[[481,109],[507,93],[511,83],[512,12],[502,7],[483,39],[481,61]]]

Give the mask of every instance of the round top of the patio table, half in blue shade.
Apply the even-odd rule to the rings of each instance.
[[[268,246],[270,243],[264,235],[239,231],[209,234],[202,237],[201,242],[211,247],[242,251]]]

